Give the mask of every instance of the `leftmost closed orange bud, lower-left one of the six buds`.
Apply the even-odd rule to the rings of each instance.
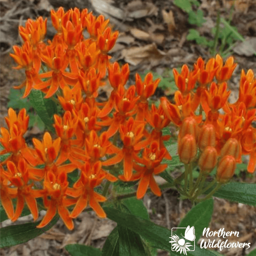
[[[180,162],[188,164],[196,156],[197,146],[195,137],[191,134],[185,135],[180,141],[178,146],[178,153]]]

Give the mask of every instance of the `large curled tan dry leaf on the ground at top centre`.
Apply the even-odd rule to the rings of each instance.
[[[166,53],[157,49],[155,43],[139,47],[135,46],[122,51],[124,60],[134,66],[145,59],[154,63],[158,62],[165,55]]]

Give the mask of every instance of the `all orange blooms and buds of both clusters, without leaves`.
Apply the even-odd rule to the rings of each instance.
[[[148,73],[142,81],[136,74],[134,85],[127,89],[128,64],[120,67],[109,61],[108,51],[118,32],[111,31],[108,20],[77,8],[67,12],[63,8],[52,10],[51,18],[57,30],[52,41],[43,41],[46,20],[28,20],[25,27],[19,28],[24,44],[14,46],[11,54],[17,68],[25,69],[26,80],[16,87],[25,87],[23,97],[31,90],[41,90],[45,98],[55,97],[64,112],[53,116],[56,134],[45,132],[42,141],[34,138],[34,147],[29,147],[24,139],[29,119],[26,110],[18,115],[11,108],[8,111],[8,129],[1,128],[0,139],[4,147],[1,155],[8,153],[1,163],[1,202],[12,221],[19,218],[25,202],[36,220],[39,197],[47,210],[39,228],[58,212],[66,226],[73,229],[72,219],[87,204],[104,218],[100,202],[107,200],[106,194],[94,191],[103,180],[139,180],[137,198],[142,198],[148,187],[161,196],[154,175],[166,169],[167,164],[161,164],[164,158],[172,159],[164,146],[170,136],[162,134],[170,122],[180,127],[178,153],[184,164],[198,160],[199,148],[201,171],[207,174],[218,163],[219,182],[231,178],[243,154],[250,155],[248,171],[254,171],[256,131],[251,123],[255,120],[256,79],[251,70],[246,75],[242,71],[239,99],[229,104],[226,81],[236,67],[233,58],[224,66],[219,55],[206,65],[199,58],[193,71],[187,65],[180,74],[174,69],[179,88],[176,103],[161,98],[156,108],[154,104],[149,106],[148,98],[155,93],[160,79],[153,80]],[[84,30],[89,38],[84,37]],[[99,102],[98,89],[104,85],[106,75],[113,91],[106,102]],[[214,77],[217,82],[212,81]],[[206,114],[205,120],[195,114],[199,106]],[[225,115],[219,114],[220,108]],[[117,147],[119,144],[122,148]],[[112,168],[106,170],[106,166],[115,164],[123,166],[121,175]],[[68,173],[74,170],[79,171],[79,178],[71,186]],[[37,187],[40,183],[41,187]]]

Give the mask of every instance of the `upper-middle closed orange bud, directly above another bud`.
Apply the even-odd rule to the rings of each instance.
[[[198,135],[198,146],[201,151],[204,151],[204,148],[211,146],[215,147],[215,128],[212,124],[205,124]]]

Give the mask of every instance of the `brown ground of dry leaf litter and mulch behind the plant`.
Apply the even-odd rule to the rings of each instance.
[[[233,48],[233,56],[238,65],[229,87],[232,90],[230,100],[236,100],[241,69],[244,68],[247,71],[251,68],[254,73],[256,71],[256,56],[253,54],[253,49],[256,51],[256,1],[201,0],[199,2],[199,9],[203,11],[206,20],[203,26],[198,28],[201,35],[212,39],[211,29],[216,25],[219,11],[221,17],[231,18],[231,25],[235,26],[246,39],[247,43],[237,42]],[[233,11],[231,11],[232,5],[234,6]],[[188,23],[188,14],[176,7],[173,1],[0,0],[1,126],[5,126],[3,118],[7,115],[10,89],[19,85],[24,79],[23,71],[12,69],[14,62],[9,56],[13,44],[21,44],[18,26],[24,26],[28,18],[49,17],[50,10],[59,6],[63,6],[66,10],[74,7],[88,8],[95,15],[103,14],[110,19],[113,29],[120,32],[117,43],[110,54],[113,61],[130,64],[130,84],[134,83],[136,72],[143,73],[145,70],[152,70],[162,75],[167,69],[181,67],[184,63],[191,68],[199,56],[202,56],[203,59],[211,57],[206,47],[186,40],[188,29],[196,28],[196,26],[191,26]],[[47,38],[51,39],[55,31],[52,28],[50,17],[47,26]],[[109,95],[109,88],[105,87],[104,90],[106,95]],[[170,88],[158,89],[154,97],[164,95],[172,98],[173,91]],[[40,136],[40,134],[42,133],[35,126],[30,128],[26,136]],[[234,179],[256,182],[255,175],[249,179],[246,171]],[[163,181],[159,177],[158,183],[161,182]],[[143,198],[143,202],[151,220],[167,228],[177,227],[180,220],[192,207],[188,200],[180,200],[177,191],[172,189],[164,190],[161,197],[147,194]],[[41,211],[40,215],[43,216],[44,213]],[[21,217],[15,224],[31,220],[31,216]],[[74,222],[75,229],[69,231],[59,220],[52,229],[29,242],[1,249],[1,255],[69,255],[64,247],[71,243],[102,248],[106,237],[115,227],[115,222],[99,219],[93,212],[83,212]],[[11,224],[11,221],[6,220],[1,223],[1,227]],[[251,248],[246,251],[243,248],[224,249],[221,252],[224,255],[242,256],[256,249],[256,207],[214,198],[214,213],[209,227],[213,231],[220,228],[225,228],[225,231],[239,231],[239,238],[230,237],[230,242],[251,243]],[[167,255],[169,255],[167,252],[158,250],[158,256]]]

